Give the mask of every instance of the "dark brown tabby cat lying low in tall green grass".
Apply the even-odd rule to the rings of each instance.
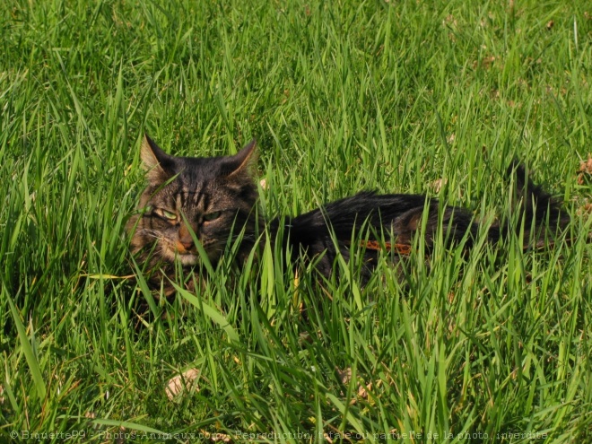
[[[256,145],[254,139],[233,156],[175,157],[144,136],[141,159],[148,186],[126,230],[132,237],[132,252],[149,272],[152,288],[162,288],[167,296],[174,292],[170,281],[175,277],[175,264],[195,273],[200,255],[194,237],[213,266],[229,240],[241,239],[236,255],[239,262],[254,248],[265,226],[257,208]],[[529,180],[524,166],[512,161],[508,172],[515,175],[515,192],[522,196],[518,227],[523,223],[524,239],[535,239],[534,246],[541,247],[545,235],[564,229],[570,217],[562,212],[560,200]],[[299,257],[314,260],[315,269],[329,277],[337,250],[348,259],[353,233],[366,231],[368,238],[361,241],[361,279],[367,280],[380,249],[407,255],[420,230],[429,254],[440,222],[446,245],[464,242],[468,251],[480,228],[473,214],[456,206],[439,208],[438,200],[429,196],[364,191],[309,213],[275,218],[269,222],[268,232],[273,241],[281,233],[277,241],[282,242],[284,252],[291,252],[292,263]],[[488,229],[488,241],[495,243],[509,235],[509,217],[504,221]],[[549,227],[546,232],[542,231],[545,223]]]

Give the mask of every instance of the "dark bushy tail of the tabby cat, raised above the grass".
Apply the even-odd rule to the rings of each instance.
[[[562,199],[536,185],[524,164],[517,160],[511,162],[507,177],[513,183],[510,214],[501,226],[490,229],[490,239],[505,239],[510,231],[520,231],[524,225],[525,248],[541,248],[548,242],[553,243],[557,234],[570,223],[570,215],[562,209]],[[516,223],[512,219],[516,219]]]

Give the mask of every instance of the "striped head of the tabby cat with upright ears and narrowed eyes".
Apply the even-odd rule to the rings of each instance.
[[[193,158],[167,154],[146,135],[141,158],[148,187],[140,198],[140,213],[127,226],[133,231],[133,251],[150,248],[157,260],[194,266],[199,253],[192,232],[213,263],[243,228],[243,244],[252,245],[257,226],[255,139],[233,156]]]

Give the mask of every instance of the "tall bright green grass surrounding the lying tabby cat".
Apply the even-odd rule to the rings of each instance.
[[[585,0],[4,0],[0,440],[592,440],[590,182],[576,180],[591,15]],[[266,246],[167,305],[126,278],[144,131],[183,155],[257,137],[270,217],[378,189],[491,221],[516,156],[565,199],[575,241],[437,248],[403,280],[385,257],[364,288],[353,261],[325,291],[307,273],[295,290]],[[199,391],[170,401],[192,368]]]

